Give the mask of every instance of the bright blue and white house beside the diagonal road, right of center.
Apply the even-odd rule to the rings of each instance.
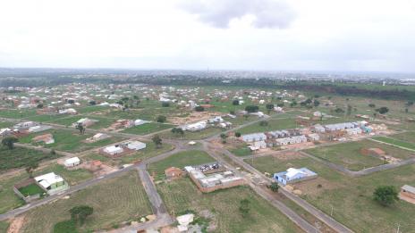
[[[287,184],[299,182],[306,179],[314,179],[317,178],[317,176],[317,173],[314,171],[309,171],[307,168],[289,168],[287,171],[275,173],[274,179],[285,186]]]

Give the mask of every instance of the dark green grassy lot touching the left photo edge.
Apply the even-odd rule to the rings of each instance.
[[[25,167],[30,162],[40,162],[58,158],[58,154],[46,154],[36,150],[30,150],[21,147],[14,147],[9,150],[4,146],[0,146],[0,171]]]

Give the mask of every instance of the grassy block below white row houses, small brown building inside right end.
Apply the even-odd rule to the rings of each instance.
[[[407,159],[413,153],[402,150],[394,146],[387,146],[371,140],[362,140],[358,142],[339,143],[333,146],[320,146],[317,148],[305,150],[318,158],[333,162],[351,171],[360,171],[368,167],[375,167],[384,164],[379,158],[361,154],[362,148],[380,148],[395,158]]]

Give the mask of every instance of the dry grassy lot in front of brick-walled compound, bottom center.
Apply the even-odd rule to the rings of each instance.
[[[284,214],[257,196],[250,187],[233,187],[209,194],[202,194],[191,180],[178,179],[157,185],[169,212],[177,215],[193,211],[211,212],[209,220],[216,226],[214,232],[301,232]],[[250,213],[241,217],[242,199],[250,201]]]

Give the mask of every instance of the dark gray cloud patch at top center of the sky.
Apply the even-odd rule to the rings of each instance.
[[[290,26],[295,18],[284,0],[184,0],[182,9],[198,15],[199,21],[216,28],[228,28],[233,19],[253,15],[252,26],[258,29]]]

